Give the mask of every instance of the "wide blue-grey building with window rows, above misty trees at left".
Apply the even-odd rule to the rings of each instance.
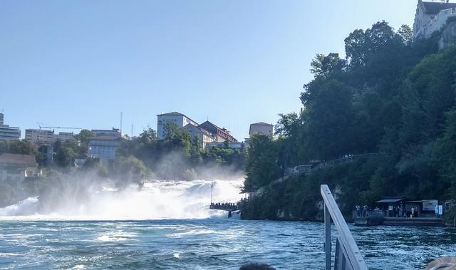
[[[98,157],[104,161],[114,160],[119,145],[120,137],[90,137],[87,154],[89,157]]]

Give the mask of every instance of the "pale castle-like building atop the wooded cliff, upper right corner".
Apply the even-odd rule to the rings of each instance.
[[[450,16],[456,15],[456,3],[418,0],[413,23],[413,38],[428,38],[445,26]]]

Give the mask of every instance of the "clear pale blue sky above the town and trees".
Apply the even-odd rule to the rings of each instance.
[[[0,110],[22,137],[37,122],[117,128],[121,111],[137,135],[178,111],[242,140],[300,110],[316,53],[383,19],[412,26],[417,1],[3,0]]]

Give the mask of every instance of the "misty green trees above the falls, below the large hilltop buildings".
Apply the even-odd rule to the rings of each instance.
[[[192,137],[175,123],[166,123],[165,130],[167,135],[163,140],[158,140],[152,128],[147,128],[132,140],[122,140],[118,156],[133,155],[157,177],[167,179],[191,179],[207,166],[230,166],[236,170],[244,167],[244,150],[219,147],[203,149],[199,137]]]

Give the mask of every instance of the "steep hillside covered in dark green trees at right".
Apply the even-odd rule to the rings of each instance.
[[[252,138],[245,189],[268,185],[309,160],[380,153],[270,185],[244,218],[314,219],[319,185],[348,213],[385,196],[456,198],[456,47],[437,50],[440,33],[412,40],[385,21],[345,39],[346,58],[318,54],[300,113],[280,115],[276,138]]]

